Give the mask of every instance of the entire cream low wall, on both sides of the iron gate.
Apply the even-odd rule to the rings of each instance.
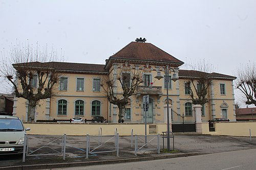
[[[31,135],[98,135],[100,128],[102,135],[114,135],[115,130],[119,135],[133,134],[144,135],[145,124],[100,124],[100,123],[24,123],[27,131]],[[251,136],[256,136],[256,122],[216,122],[215,132],[209,132],[208,122],[202,123],[202,134],[230,135],[230,136],[249,136],[249,128]],[[166,131],[167,125],[164,123],[147,125],[147,134],[157,134]]]

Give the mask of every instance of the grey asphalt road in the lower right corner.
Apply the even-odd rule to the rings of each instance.
[[[142,162],[130,163],[116,163],[93,166],[77,166],[67,168],[52,168],[51,170],[71,170],[71,169],[87,169],[87,170],[119,170],[119,169],[133,169],[133,170],[156,170],[156,169],[255,169],[256,168],[256,149],[229,151],[215,154],[151,160]]]

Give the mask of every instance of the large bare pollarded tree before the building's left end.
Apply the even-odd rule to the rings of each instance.
[[[1,75],[12,85],[17,98],[28,100],[28,121],[34,121],[35,107],[42,99],[51,98],[60,74],[54,67],[56,53],[47,46],[34,49],[28,45],[12,45],[7,57],[3,55]],[[47,62],[48,61],[48,62]]]

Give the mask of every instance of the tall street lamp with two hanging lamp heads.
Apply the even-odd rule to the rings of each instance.
[[[176,80],[178,80],[179,78],[175,74],[175,70],[169,67],[168,65],[166,65],[166,67],[163,67],[163,66],[159,67],[159,70],[157,71],[157,75],[155,76],[156,79],[160,80],[163,78],[160,72],[160,68],[164,69],[165,78],[166,78],[165,81],[166,81],[166,98],[167,98],[167,151],[170,151],[169,94],[168,94],[169,70],[174,72],[171,80],[176,82]]]

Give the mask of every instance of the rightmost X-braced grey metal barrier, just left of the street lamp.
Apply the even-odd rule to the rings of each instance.
[[[157,146],[153,145],[154,140],[157,140]],[[146,135],[146,136],[135,134],[135,155],[136,156],[138,151],[152,151],[152,150],[157,150],[157,153],[160,154],[160,134]]]

